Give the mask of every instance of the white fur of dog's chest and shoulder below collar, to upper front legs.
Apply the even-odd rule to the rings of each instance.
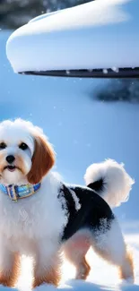
[[[0,267],[7,268],[8,252],[35,258],[36,248],[41,265],[51,265],[68,218],[57,199],[59,187],[59,181],[50,173],[39,192],[28,199],[14,202],[0,193]]]

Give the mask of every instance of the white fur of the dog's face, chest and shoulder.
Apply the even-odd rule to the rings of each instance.
[[[7,145],[6,149],[0,150],[0,163],[6,164],[8,154],[18,154],[23,158],[28,174],[34,151],[34,134],[43,133],[38,127],[21,119],[0,124],[0,142],[4,141]],[[18,145],[21,141],[26,142],[30,150],[20,150]],[[27,184],[26,176],[19,172],[2,171],[0,183]],[[57,198],[59,187],[58,177],[48,173],[42,180],[39,192],[26,199],[14,202],[6,194],[0,193],[0,268],[4,265],[6,268],[10,252],[34,256],[36,247],[45,264],[51,260],[52,253],[56,253],[59,247],[59,236],[68,217]]]

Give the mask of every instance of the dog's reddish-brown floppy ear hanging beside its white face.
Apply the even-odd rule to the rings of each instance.
[[[37,184],[46,175],[55,163],[55,153],[52,146],[43,136],[35,138],[35,150],[32,157],[32,166],[27,175],[30,184]]]

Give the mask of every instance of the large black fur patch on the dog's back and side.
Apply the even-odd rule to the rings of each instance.
[[[81,204],[81,209],[75,209],[75,201],[71,191],[74,191]],[[65,195],[68,223],[62,235],[62,241],[69,239],[78,230],[88,228],[91,232],[102,229],[102,221],[105,220],[103,233],[108,231],[112,220],[115,218],[109,205],[99,195],[88,187],[63,184],[60,191]]]

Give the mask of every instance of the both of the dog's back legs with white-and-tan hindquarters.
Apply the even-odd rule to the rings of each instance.
[[[104,219],[97,230],[78,231],[64,245],[65,258],[76,268],[76,277],[86,279],[91,267],[86,261],[86,253],[92,247],[94,252],[105,261],[117,266],[119,278],[134,282],[134,261],[131,252],[127,249],[124,237],[116,218],[111,221],[110,227],[106,227]]]

